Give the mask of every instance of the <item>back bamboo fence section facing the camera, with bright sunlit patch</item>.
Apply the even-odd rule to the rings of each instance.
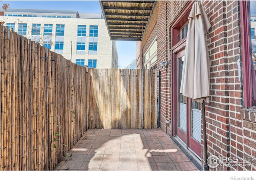
[[[90,69],[89,129],[157,127],[156,69]]]

